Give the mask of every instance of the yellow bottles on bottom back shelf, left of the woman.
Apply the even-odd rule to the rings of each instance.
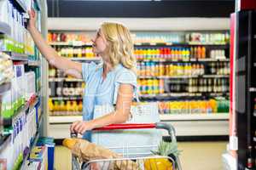
[[[53,100],[48,101],[51,116],[81,115],[83,110],[82,100]]]

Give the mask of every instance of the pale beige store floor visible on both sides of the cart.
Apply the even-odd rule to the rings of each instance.
[[[183,150],[181,161],[183,170],[221,170],[221,155],[227,142],[179,142]],[[71,169],[70,151],[62,146],[55,148],[55,169]]]

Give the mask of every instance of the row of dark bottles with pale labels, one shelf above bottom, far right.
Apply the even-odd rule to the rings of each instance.
[[[184,80],[168,82],[170,93],[227,93],[229,80],[226,78],[189,78],[189,83]]]

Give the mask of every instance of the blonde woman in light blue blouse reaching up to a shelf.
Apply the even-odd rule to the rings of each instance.
[[[105,22],[92,40],[93,52],[102,57],[102,65],[79,63],[59,56],[44,41],[35,27],[35,14],[30,12],[28,31],[49,64],[73,77],[83,78],[83,121],[73,122],[71,131],[84,134],[90,140],[90,131],[108,124],[126,122],[134,94],[137,95],[136,58],[130,31],[118,23]],[[115,111],[93,119],[95,105],[116,105]]]

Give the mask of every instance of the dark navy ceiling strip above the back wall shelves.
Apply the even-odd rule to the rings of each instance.
[[[47,0],[49,17],[230,17],[235,0]]]

